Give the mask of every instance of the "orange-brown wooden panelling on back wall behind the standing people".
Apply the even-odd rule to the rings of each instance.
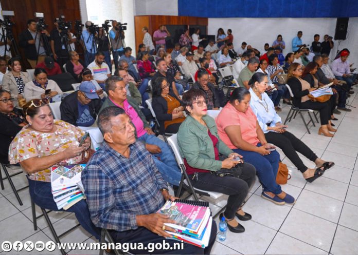
[[[208,26],[208,18],[203,17],[186,17],[186,16],[163,16],[163,15],[147,15],[147,16],[135,16],[135,45],[136,51],[139,44],[143,42],[143,36],[141,29],[146,26],[149,29],[149,33],[153,36],[155,30],[160,25],[202,25]],[[205,31],[207,33],[207,31]]]

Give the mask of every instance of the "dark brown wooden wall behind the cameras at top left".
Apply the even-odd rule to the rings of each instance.
[[[78,0],[1,0],[0,2],[3,10],[14,11],[15,13],[15,16],[11,17],[11,21],[15,22],[13,35],[17,43],[19,43],[19,34],[27,29],[27,20],[35,18],[35,12],[44,13],[45,23],[48,24],[48,32],[55,27],[53,25],[55,18],[61,15],[65,16],[66,21],[73,22],[73,25],[77,19],[81,19]],[[24,60],[25,55],[23,55],[21,48],[20,51]],[[24,61],[23,64],[28,65],[27,61]],[[29,66],[25,67],[29,68]]]

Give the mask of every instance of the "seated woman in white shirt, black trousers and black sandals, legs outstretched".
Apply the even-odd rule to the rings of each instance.
[[[257,121],[265,134],[268,143],[281,148],[289,160],[301,171],[303,178],[313,182],[323,172],[331,168],[334,163],[326,162],[320,158],[295,135],[286,131],[287,126],[282,125],[281,117],[276,113],[274,104],[265,93],[267,88],[267,76],[263,73],[255,73],[249,81],[251,94],[250,108],[257,116]],[[316,164],[316,169],[308,168],[299,158],[297,152],[306,156]]]

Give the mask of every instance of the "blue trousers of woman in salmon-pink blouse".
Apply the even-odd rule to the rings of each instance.
[[[261,144],[258,143],[256,146],[260,147]],[[246,163],[254,165],[257,176],[262,183],[263,191],[272,192],[274,194],[282,192],[281,186],[276,183],[278,162],[280,161],[280,154],[276,150],[264,156],[254,151],[242,149],[234,149],[234,151],[242,155]]]

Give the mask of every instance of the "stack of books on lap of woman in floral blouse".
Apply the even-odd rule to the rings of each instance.
[[[51,190],[58,209],[67,210],[84,199],[81,172],[86,164],[56,166],[51,169]]]

